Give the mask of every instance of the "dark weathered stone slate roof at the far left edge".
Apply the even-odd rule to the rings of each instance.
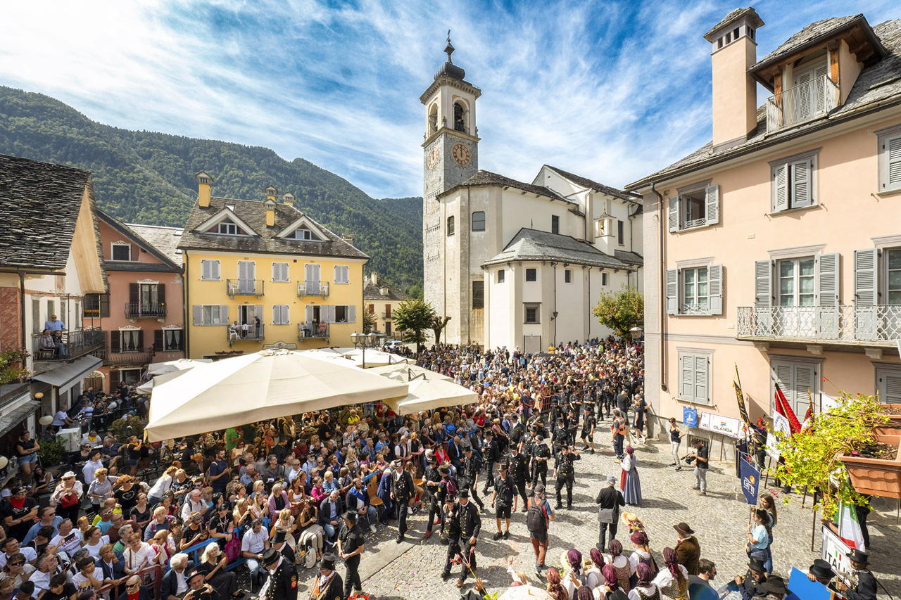
[[[86,187],[80,168],[0,154],[0,266],[65,268]]]

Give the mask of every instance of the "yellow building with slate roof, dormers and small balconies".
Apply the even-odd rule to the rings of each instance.
[[[262,348],[349,346],[362,331],[369,257],[268,186],[266,200],[214,197],[197,173],[197,203],[178,249],[185,265],[188,358]],[[358,321],[359,319],[359,321]]]

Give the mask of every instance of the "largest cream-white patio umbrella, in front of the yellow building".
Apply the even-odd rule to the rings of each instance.
[[[192,368],[153,390],[149,441],[287,414],[405,397],[407,386],[309,352],[262,350]]]

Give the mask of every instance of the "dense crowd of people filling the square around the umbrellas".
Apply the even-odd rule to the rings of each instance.
[[[311,598],[346,598],[362,591],[367,536],[389,527],[404,541],[408,516],[420,511],[424,540],[437,532],[447,545],[443,577],[460,587],[469,577],[481,585],[483,515],[493,514],[485,525],[501,540],[522,513],[534,573],[555,600],[687,600],[707,590],[718,597],[715,564],[702,558],[687,523],[675,525],[658,559],[641,520],[627,512],[642,503],[632,445],[646,436],[641,343],[560,344],[538,355],[449,345],[402,351],[475,390],[478,404],[405,416],[380,403],[342,406],[165,444],[143,444],[140,432],[117,439],[90,429],[59,480],[32,459],[40,441],[24,433],[20,475],[0,507],[0,600],[143,600],[150,585],[165,600],[293,600],[298,577],[313,568]],[[57,416],[70,420],[113,403],[135,423],[146,410],[121,386],[112,395],[88,391]],[[596,497],[596,547],[584,560],[568,549],[559,567],[549,567],[551,523],[573,508],[581,453],[596,451],[609,451],[622,473]],[[703,443],[692,456],[696,471],[706,468]],[[674,460],[679,468],[675,450]],[[705,477],[696,481],[705,493]],[[631,553],[617,539],[623,523]],[[772,575],[769,552],[777,523],[771,497],[763,496],[754,523],[748,575],[734,586],[742,600],[780,598],[784,582]],[[250,589],[239,585],[244,568]],[[513,585],[525,583],[510,572]]]

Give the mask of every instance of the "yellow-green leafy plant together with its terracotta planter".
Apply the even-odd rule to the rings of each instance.
[[[884,405],[875,396],[842,393],[829,411],[811,415],[801,432],[776,433],[783,462],[774,474],[788,486],[819,491],[815,507],[821,508],[827,519],[842,502],[867,505],[863,494],[899,498],[897,445],[901,436],[878,435],[875,430],[886,423]],[[892,448],[895,453],[889,459]]]

